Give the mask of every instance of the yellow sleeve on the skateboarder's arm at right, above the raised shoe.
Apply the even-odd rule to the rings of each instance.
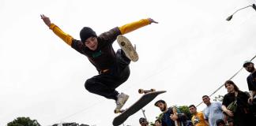
[[[150,24],[149,19],[141,19],[141,20],[132,22],[130,24],[122,25],[121,27],[119,27],[119,30],[123,35],[123,34],[129,33],[130,31],[134,31],[138,28],[144,27],[148,24]]]

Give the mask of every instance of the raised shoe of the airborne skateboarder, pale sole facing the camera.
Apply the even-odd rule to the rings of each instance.
[[[128,57],[131,61],[137,61],[138,60],[138,54],[136,52],[136,49],[134,46],[130,43],[130,40],[127,39],[123,35],[117,36],[117,42],[119,43],[119,46],[126,54],[126,57]]]

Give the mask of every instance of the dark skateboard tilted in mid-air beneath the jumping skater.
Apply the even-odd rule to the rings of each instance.
[[[114,126],[118,126],[122,124],[125,120],[127,120],[128,117],[133,115],[134,113],[137,113],[140,109],[142,109],[144,106],[149,104],[154,98],[156,98],[157,95],[160,95],[166,91],[156,91],[155,89],[151,89],[149,91],[144,91],[142,89],[139,89],[138,92],[140,94],[144,94],[141,96],[140,99],[137,100],[132,106],[130,106],[127,109],[120,109],[116,110],[115,113],[120,113],[119,116],[115,117],[112,124]]]

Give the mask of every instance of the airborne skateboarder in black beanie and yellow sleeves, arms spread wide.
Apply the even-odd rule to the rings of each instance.
[[[57,25],[51,23],[49,17],[41,15],[41,18],[55,35],[58,35],[74,50],[88,57],[88,60],[96,67],[99,75],[86,80],[85,88],[96,95],[114,99],[116,103],[115,109],[121,109],[129,95],[119,93],[115,88],[119,87],[130,76],[129,64],[131,59],[127,55],[130,54],[130,52],[127,52],[129,50],[119,49],[115,53],[112,44],[119,35],[124,35],[148,24],[157,24],[157,22],[151,18],[142,19],[121,27],[112,28],[101,35],[96,35],[92,28],[84,27],[80,31],[81,40],[77,40],[66,34]],[[127,41],[126,43],[130,42]]]

